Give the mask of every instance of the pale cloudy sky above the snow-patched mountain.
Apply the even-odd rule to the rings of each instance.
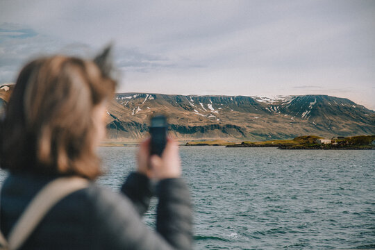
[[[115,45],[117,92],[328,94],[375,110],[372,0],[0,0],[0,84]]]

